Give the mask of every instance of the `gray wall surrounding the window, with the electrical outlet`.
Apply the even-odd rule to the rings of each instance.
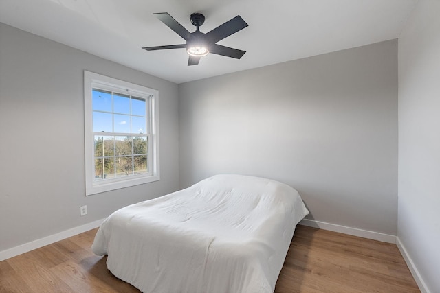
[[[0,44],[0,251],[178,188],[177,84],[4,24]],[[85,196],[84,70],[159,90],[159,182]]]

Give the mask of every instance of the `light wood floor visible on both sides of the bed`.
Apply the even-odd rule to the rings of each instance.
[[[139,292],[91,252],[96,231],[0,261],[0,292]],[[275,292],[420,291],[397,246],[298,225]]]

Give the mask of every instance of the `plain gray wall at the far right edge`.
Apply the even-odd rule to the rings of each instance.
[[[399,38],[399,232],[440,292],[440,2],[419,1]]]

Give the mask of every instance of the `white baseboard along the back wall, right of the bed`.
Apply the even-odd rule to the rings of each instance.
[[[304,226],[309,226],[309,227],[314,227],[314,228],[320,228],[320,229],[324,229],[324,230],[329,230],[329,231],[333,231],[333,232],[339,232],[339,233],[344,233],[344,234],[348,234],[348,235],[373,239],[373,240],[379,240],[382,242],[388,242],[388,243],[393,243],[393,244],[396,243],[396,237],[394,235],[389,235],[389,234],[384,234],[384,233],[379,233],[379,232],[367,231],[367,230],[362,230],[362,229],[352,228],[352,227],[347,227],[347,226],[341,226],[341,225],[336,225],[336,224],[329,224],[326,222],[320,222],[320,221],[309,220],[309,219],[303,219],[298,224],[304,225]]]

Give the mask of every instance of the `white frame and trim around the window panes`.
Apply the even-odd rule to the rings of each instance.
[[[93,132],[92,89],[107,89],[119,93],[149,95],[147,100],[148,124],[151,133],[148,136],[148,173],[95,180],[95,152]],[[159,91],[146,86],[124,82],[115,78],[84,71],[84,122],[85,122],[85,195],[98,194],[105,191],[131,187],[160,180],[159,176]]]

